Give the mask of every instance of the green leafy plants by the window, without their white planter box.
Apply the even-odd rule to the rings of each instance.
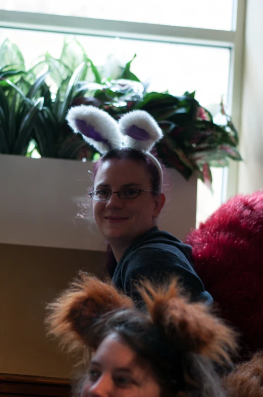
[[[186,92],[182,97],[169,93],[147,93],[145,86],[130,70],[132,60],[125,67],[119,68],[118,76],[106,78],[103,77],[103,69],[95,67],[77,41],[64,42],[60,59],[52,58],[46,53],[27,72],[22,54],[16,46],[5,41],[0,48],[1,53],[15,54],[9,60],[12,60],[13,65],[8,67],[12,68],[10,72],[14,73],[16,80],[23,73],[16,84],[12,82],[8,95],[5,95],[4,88],[0,92],[1,125],[2,130],[5,130],[5,139],[12,136],[7,129],[7,117],[14,112],[16,118],[16,112],[21,111],[21,107],[17,108],[14,103],[12,105],[10,98],[7,99],[12,95],[15,97],[13,89],[20,93],[21,106],[31,111],[31,114],[34,113],[34,117],[27,118],[30,128],[27,128],[24,144],[28,145],[30,138],[33,138],[33,147],[37,148],[40,156],[79,160],[93,158],[94,149],[80,135],[74,135],[65,122],[69,107],[84,103],[108,111],[117,120],[133,109],[148,111],[164,132],[164,138],[156,145],[157,155],[167,167],[175,168],[186,179],[196,173],[211,186],[211,166],[227,166],[229,158],[241,160],[237,150],[238,135],[230,117],[226,116],[225,125],[214,123],[211,113],[195,100],[194,93]],[[3,59],[2,56],[0,65],[8,61]],[[15,69],[18,65],[20,70]],[[36,78],[36,74],[39,75],[42,71],[43,74]],[[0,84],[10,84],[5,75]],[[223,104],[221,109],[225,114]],[[23,114],[25,116],[26,113]],[[21,115],[18,121],[23,127]],[[14,126],[18,131],[20,127],[17,123],[14,122]],[[7,152],[4,136],[1,139],[1,152]],[[32,149],[29,153],[31,152]],[[15,153],[25,154],[25,148],[21,148],[20,152],[17,148]]]

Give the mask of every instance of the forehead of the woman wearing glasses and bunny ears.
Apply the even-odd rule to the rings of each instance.
[[[142,163],[126,158],[110,159],[100,163],[94,184],[140,184],[150,183],[148,171]]]

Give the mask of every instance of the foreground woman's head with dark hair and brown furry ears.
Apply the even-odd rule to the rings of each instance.
[[[82,273],[49,305],[49,333],[85,360],[90,351],[81,397],[225,396],[214,365],[230,363],[233,331],[206,305],[190,303],[176,281],[139,292],[145,312]]]

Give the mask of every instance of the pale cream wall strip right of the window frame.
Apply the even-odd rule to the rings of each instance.
[[[247,0],[238,192],[263,188],[263,2]]]

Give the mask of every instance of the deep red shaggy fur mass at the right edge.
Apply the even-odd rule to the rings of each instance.
[[[231,198],[186,243],[205,289],[240,332],[243,348],[262,349],[263,191]]]

